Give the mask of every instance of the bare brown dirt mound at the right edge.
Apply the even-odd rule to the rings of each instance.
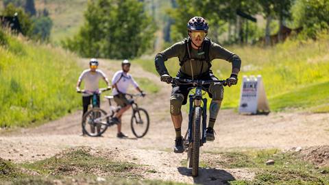
[[[317,167],[329,167],[329,145],[307,147],[307,148],[294,148],[298,157],[303,160],[312,162]]]

